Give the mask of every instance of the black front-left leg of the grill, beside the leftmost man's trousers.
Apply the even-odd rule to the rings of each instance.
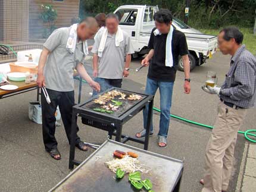
[[[70,154],[69,154],[69,169],[74,169],[74,153],[76,148],[76,111],[73,109],[72,112],[72,125],[71,125],[71,136],[70,136]]]

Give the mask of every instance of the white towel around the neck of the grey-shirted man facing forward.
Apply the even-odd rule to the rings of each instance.
[[[105,49],[105,45],[107,42],[107,37],[108,37],[108,29],[105,28],[102,33],[101,42],[99,43],[99,49],[98,49],[99,57],[102,57],[102,53]],[[120,46],[120,42],[123,42],[123,40],[124,40],[123,30],[121,30],[121,28],[118,27],[117,33],[115,33],[115,46],[117,47]]]

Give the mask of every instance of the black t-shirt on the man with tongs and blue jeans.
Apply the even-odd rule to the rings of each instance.
[[[168,34],[155,36],[151,32],[148,43],[149,49],[154,49],[154,56],[149,65],[148,78],[157,81],[175,81],[179,55],[188,55],[188,45],[185,34],[178,30],[173,30],[173,38],[171,40],[171,52],[173,53],[173,67],[166,67],[166,39]]]

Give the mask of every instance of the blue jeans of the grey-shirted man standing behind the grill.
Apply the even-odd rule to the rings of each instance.
[[[92,96],[98,95],[99,93],[103,93],[107,89],[110,89],[111,87],[119,87],[119,88],[121,88],[123,80],[121,78],[118,78],[118,79],[108,79],[108,78],[96,77],[94,79],[94,81],[99,83],[99,85],[101,86],[101,91],[100,92],[96,92],[95,90],[93,90]]]

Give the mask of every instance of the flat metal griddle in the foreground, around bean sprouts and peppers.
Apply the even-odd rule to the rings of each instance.
[[[142,179],[149,178],[152,181],[155,192],[179,191],[180,180],[183,173],[181,160],[158,155],[136,147],[128,146],[116,141],[107,140],[98,150],[83,161],[63,181],[50,191],[70,192],[131,192],[135,190],[128,181],[128,175],[121,181],[115,180],[115,174],[111,172],[104,162],[113,159],[114,150],[124,152],[132,151],[139,155],[139,161],[152,168],[149,174],[143,174]],[[101,157],[96,160],[96,157]],[[141,190],[145,191],[145,190]]]

